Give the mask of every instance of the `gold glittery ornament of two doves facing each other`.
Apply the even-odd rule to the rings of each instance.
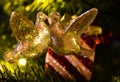
[[[92,8],[76,18],[62,18],[58,12],[48,16],[38,12],[35,25],[18,11],[13,11],[10,18],[10,27],[18,40],[16,47],[5,52],[6,61],[14,62],[21,57],[36,57],[42,55],[49,47],[55,53],[63,55],[84,53],[84,56],[94,54],[92,49],[84,48],[78,40],[87,31],[96,18],[98,10]],[[81,55],[81,54],[80,54]]]

